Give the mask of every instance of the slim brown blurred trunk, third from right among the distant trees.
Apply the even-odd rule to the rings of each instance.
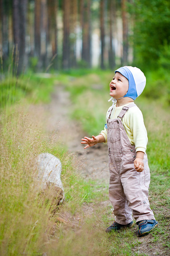
[[[105,0],[100,0],[100,41],[101,41],[101,63],[100,67],[104,69],[104,4]]]

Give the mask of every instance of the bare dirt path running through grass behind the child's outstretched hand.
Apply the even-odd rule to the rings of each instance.
[[[89,150],[84,150],[80,143],[85,134],[80,124],[70,118],[70,109],[73,107],[69,93],[64,91],[63,86],[57,87],[52,95],[52,101],[47,106],[48,121],[47,132],[52,132],[54,129],[58,132],[59,141],[67,145],[71,153],[75,153],[78,157],[78,162],[81,166],[81,174],[84,177],[102,180],[108,184],[108,154],[107,145],[103,143]]]

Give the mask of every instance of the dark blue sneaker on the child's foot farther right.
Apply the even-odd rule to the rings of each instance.
[[[138,221],[139,226],[138,235],[139,237],[147,235],[154,227],[158,226],[158,222],[155,219],[144,219],[143,221]]]

